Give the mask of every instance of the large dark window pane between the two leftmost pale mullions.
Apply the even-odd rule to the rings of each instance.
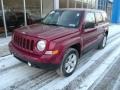
[[[7,32],[11,35],[15,28],[24,24],[23,0],[3,0],[3,4]]]

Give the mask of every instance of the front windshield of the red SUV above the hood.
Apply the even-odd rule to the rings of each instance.
[[[51,11],[43,20],[43,24],[63,27],[78,27],[80,23],[80,11]]]

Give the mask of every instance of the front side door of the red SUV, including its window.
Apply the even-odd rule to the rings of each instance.
[[[95,13],[86,12],[83,24],[83,46],[85,51],[94,47],[97,41],[98,33],[95,27],[96,25]]]

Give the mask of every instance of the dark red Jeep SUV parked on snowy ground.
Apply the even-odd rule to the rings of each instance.
[[[108,25],[104,11],[53,10],[41,23],[16,29],[9,48],[29,66],[57,68],[58,74],[70,76],[81,54],[105,47]]]

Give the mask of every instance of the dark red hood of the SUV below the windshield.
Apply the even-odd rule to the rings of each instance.
[[[42,24],[35,24],[35,25],[16,29],[16,32],[26,34],[29,36],[38,37],[41,39],[53,40],[53,39],[57,39],[57,38],[75,33],[77,32],[77,29],[52,26],[52,25],[48,26],[48,25],[42,25]]]

